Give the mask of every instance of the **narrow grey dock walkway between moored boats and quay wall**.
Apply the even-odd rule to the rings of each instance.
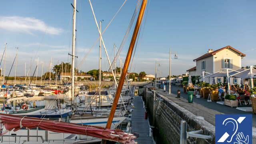
[[[134,111],[132,112],[132,133],[138,133],[136,142],[139,144],[154,144],[153,139],[149,137],[149,124],[148,120],[145,120],[145,112],[143,108],[143,101],[141,96],[135,96]]]

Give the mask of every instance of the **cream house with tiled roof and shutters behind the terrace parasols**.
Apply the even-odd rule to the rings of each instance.
[[[225,46],[218,50],[208,50],[208,52],[193,61],[196,62],[196,67],[187,70],[191,76],[202,76],[202,72],[215,73],[220,70],[239,70],[242,65],[242,58],[246,55],[242,52],[232,48],[231,46]],[[240,80],[230,78],[230,83],[240,84]],[[205,82],[212,83],[212,78],[206,78]],[[215,78],[215,82],[224,82],[224,77]],[[239,82],[238,82],[239,81]],[[233,83],[235,82],[235,83]]]

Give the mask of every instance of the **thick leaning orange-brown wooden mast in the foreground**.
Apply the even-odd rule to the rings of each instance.
[[[124,84],[124,80],[125,80],[125,77],[126,77],[126,72],[127,72],[128,66],[130,64],[130,60],[131,60],[131,57],[132,57],[132,51],[133,51],[133,48],[134,48],[134,44],[136,42],[138,31],[140,29],[140,24],[141,24],[142,17],[143,17],[145,8],[146,8],[147,1],[148,0],[143,0],[143,2],[141,4],[141,7],[140,7],[140,13],[138,15],[136,26],[135,26],[134,32],[132,34],[132,40],[130,42],[129,50],[128,50],[127,55],[126,55],[126,59],[125,59],[125,62],[124,62],[124,68],[122,70],[122,75],[121,75],[121,78],[120,78],[120,81],[119,81],[119,84],[118,84],[118,87],[117,87],[117,90],[116,90],[116,95],[114,97],[114,101],[113,101],[113,104],[112,104],[112,107],[111,107],[110,115],[108,117],[108,122],[106,124],[106,128],[110,128],[110,126],[112,124],[112,120],[114,118],[114,114],[115,114],[115,111],[116,111],[116,106],[118,104],[118,99],[119,99],[119,96],[121,94],[121,90],[122,90],[122,87],[123,87],[123,84]]]

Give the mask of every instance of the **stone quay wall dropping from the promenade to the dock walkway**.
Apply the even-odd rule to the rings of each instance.
[[[154,100],[155,98],[158,100]],[[180,144],[180,122],[186,120],[187,132],[203,130],[204,135],[212,136],[213,140],[187,138],[187,144],[215,144],[215,127],[206,120],[192,114],[165,96],[144,87],[144,103],[150,124],[154,126],[154,137],[157,143]]]

